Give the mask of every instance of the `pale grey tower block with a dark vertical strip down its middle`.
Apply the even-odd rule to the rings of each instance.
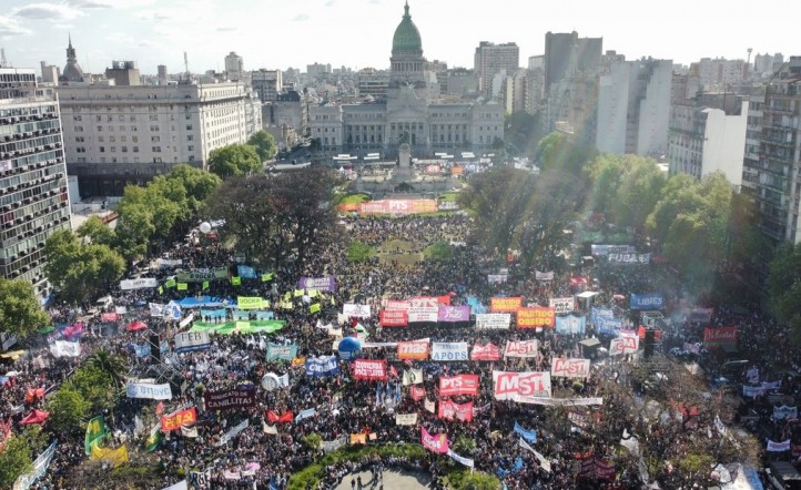
[[[662,155],[668,150],[670,60],[612,62],[598,88],[596,146],[604,153]]]

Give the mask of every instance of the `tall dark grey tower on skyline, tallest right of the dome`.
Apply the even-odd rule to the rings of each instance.
[[[579,38],[578,32],[545,34],[545,93],[570,73],[597,71],[601,64],[604,38]]]

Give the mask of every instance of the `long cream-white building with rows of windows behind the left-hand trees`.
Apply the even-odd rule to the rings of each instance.
[[[261,102],[237,82],[58,89],[67,166],[82,196],[122,195],[179,163],[205,169],[212,150],[261,129]]]

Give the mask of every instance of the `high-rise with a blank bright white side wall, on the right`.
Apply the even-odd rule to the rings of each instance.
[[[670,174],[701,178],[723,172],[736,188],[742,183],[748,96],[703,93],[675,104],[670,114]]]

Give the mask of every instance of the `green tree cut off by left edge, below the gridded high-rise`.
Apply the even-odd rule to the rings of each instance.
[[[3,333],[24,338],[49,321],[50,317],[42,309],[31,283],[0,277],[0,325]]]

